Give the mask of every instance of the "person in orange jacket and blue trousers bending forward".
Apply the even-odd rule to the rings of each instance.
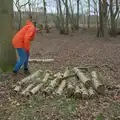
[[[13,37],[12,44],[19,56],[12,71],[14,75],[17,75],[22,65],[24,65],[24,73],[27,75],[30,74],[28,69],[28,59],[30,54],[30,42],[34,40],[36,34],[35,26],[36,22],[32,22],[32,18],[30,17],[30,19],[27,20],[26,25]]]

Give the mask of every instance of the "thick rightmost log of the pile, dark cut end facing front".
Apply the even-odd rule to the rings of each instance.
[[[105,94],[105,86],[98,80],[96,71],[92,71],[92,85],[98,94]]]

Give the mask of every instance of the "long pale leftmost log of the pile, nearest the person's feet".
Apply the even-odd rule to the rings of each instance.
[[[21,90],[21,86],[23,83],[28,83],[29,81],[34,81],[37,77],[40,76],[41,70],[36,71],[34,74],[22,79],[20,82],[17,83],[15,86],[14,91],[19,92]]]

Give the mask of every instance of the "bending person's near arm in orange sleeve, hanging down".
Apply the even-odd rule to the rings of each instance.
[[[24,37],[24,47],[27,52],[30,50],[30,41],[34,39],[36,33],[36,29],[34,27],[28,28],[28,30],[25,33]]]

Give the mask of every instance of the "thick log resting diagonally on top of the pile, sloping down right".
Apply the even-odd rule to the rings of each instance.
[[[85,87],[89,88],[91,86],[91,80],[85,76],[83,72],[81,72],[77,67],[75,67],[74,72],[77,74],[78,78],[85,85]]]

